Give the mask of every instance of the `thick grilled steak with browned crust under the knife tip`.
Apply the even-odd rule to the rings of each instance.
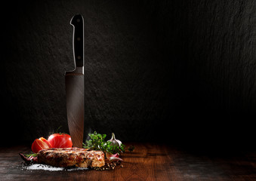
[[[76,147],[66,149],[42,149],[38,152],[38,163],[54,167],[102,167],[104,153]]]

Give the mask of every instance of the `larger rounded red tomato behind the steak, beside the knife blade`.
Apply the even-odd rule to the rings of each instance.
[[[48,142],[51,143],[53,148],[71,148],[72,140],[69,134],[66,133],[54,133],[48,137]]]

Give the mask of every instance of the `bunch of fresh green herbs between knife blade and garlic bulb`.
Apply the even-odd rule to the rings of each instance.
[[[106,134],[100,134],[94,131],[94,133],[88,133],[88,136],[91,137],[91,139],[82,143],[85,149],[101,150],[105,153],[108,152],[112,154],[121,154],[126,150],[132,152],[134,150],[134,146],[128,146],[128,149],[126,149],[124,144],[121,144],[121,146],[113,146],[111,142],[105,141]]]

